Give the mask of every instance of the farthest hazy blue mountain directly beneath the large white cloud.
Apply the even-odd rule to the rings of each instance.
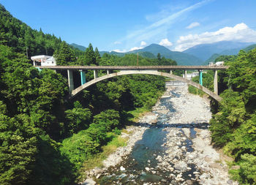
[[[222,41],[222,42],[215,42],[212,44],[195,45],[192,48],[184,50],[184,53],[197,56],[203,61],[206,61],[214,53],[221,53],[222,55],[236,55],[239,50],[252,44],[253,43],[249,43],[249,42]]]

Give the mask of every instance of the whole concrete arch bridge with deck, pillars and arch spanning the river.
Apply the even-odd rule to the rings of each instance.
[[[218,102],[222,100],[221,97],[218,96],[218,78],[217,78],[217,70],[225,70],[227,66],[218,66],[218,67],[209,67],[209,66],[37,66],[39,69],[55,69],[55,70],[67,70],[68,82],[69,82],[69,92],[71,97],[75,97],[80,91],[88,88],[89,86],[98,83],[99,81],[106,80],[108,78],[114,78],[116,76],[121,75],[136,75],[136,74],[144,74],[144,75],[159,75],[167,78],[173,78],[175,80],[180,80],[184,83],[187,83],[191,86],[194,86],[209,96],[216,99]],[[170,70],[169,72],[159,72],[158,70],[165,69]],[[173,75],[173,70],[182,69],[184,70],[184,78],[181,78],[177,75]],[[187,70],[195,70],[197,69],[199,72],[200,83],[195,83],[192,80],[187,79]],[[81,78],[81,86],[74,89],[73,83],[73,71],[80,71]],[[86,73],[85,70],[94,70],[94,79],[86,82]],[[107,74],[101,77],[98,77],[99,70],[106,70]],[[110,71],[118,70],[118,72]],[[203,70],[214,70],[214,92],[210,91],[208,88],[203,86]]]

